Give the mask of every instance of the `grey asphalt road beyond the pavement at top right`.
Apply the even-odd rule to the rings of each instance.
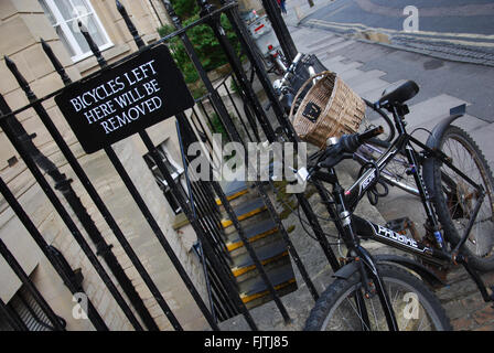
[[[494,65],[492,0],[334,0],[302,23]]]

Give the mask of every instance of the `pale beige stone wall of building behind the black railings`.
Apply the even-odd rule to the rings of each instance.
[[[152,42],[157,40],[158,34],[155,29],[160,23],[158,17],[151,12],[152,9],[150,9],[148,1],[121,2],[127,7],[132,21],[142,34],[144,41]],[[114,43],[112,47],[103,52],[105,58],[112,62],[133,52],[136,45],[125,26],[124,20],[116,10],[115,1],[103,0],[92,1],[92,3]],[[8,55],[17,63],[33,92],[39,97],[42,97],[55,89],[62,88],[63,84],[42,51],[40,38],[43,38],[50,44],[56,56],[66,67],[72,79],[76,81],[97,69],[97,63],[94,57],[77,63],[72,62],[37,1],[0,0],[0,53],[2,57],[3,55]],[[0,94],[4,96],[12,110],[26,105],[28,99],[6,67],[3,58],[0,61]],[[179,321],[185,329],[190,330],[200,330],[207,327],[197,306],[106,154],[104,152],[96,152],[90,156],[86,154],[82,150],[73,131],[68,128],[54,100],[47,99],[43,103],[43,106],[54,120],[64,140],[78,159],[82,168],[89,176],[89,180],[93,182],[132,248],[138,254],[159,290],[163,293],[173,313],[179,318]],[[160,329],[171,329],[149,289],[143,284],[130,259],[116,240],[107,223],[90,201],[39,117],[32,109],[28,109],[19,114],[17,118],[22,122],[29,133],[36,133],[33,141],[42,153],[52,160],[62,172],[66,173],[67,178],[74,180],[72,184],[74,190],[86,206],[106,242],[114,245],[114,254],[132,280],[144,304],[155,318]],[[176,139],[175,130],[169,127],[170,124],[174,124],[173,120],[149,129],[150,133],[157,137],[154,138],[157,143],[167,138],[173,141]],[[175,143],[173,145],[176,146]],[[200,264],[194,258],[194,255],[190,253],[190,242],[184,242],[184,245],[182,237],[185,236],[178,234],[172,228],[170,206],[142,159],[146,152],[142,145],[138,139],[129,138],[117,143],[115,149],[148,207],[157,218],[164,236],[170,242],[192,280],[196,284],[197,289],[203,292],[203,278]],[[176,151],[173,153],[176,153]],[[0,132],[0,176],[8,183],[9,189],[14,193],[45,240],[62,252],[73,269],[82,269],[84,275],[83,287],[110,330],[131,330],[132,327],[122,311],[3,132]],[[47,180],[52,183],[50,179]],[[58,194],[58,196],[61,195]],[[60,199],[62,200],[63,197]],[[76,222],[78,228],[83,229],[65,201],[62,200],[62,202],[72,218]],[[187,228],[183,229],[183,232],[187,232],[187,238],[191,238],[190,232],[192,229]],[[82,233],[87,239],[88,237],[85,232],[82,231]],[[55,312],[67,321],[67,329],[93,330],[93,325],[88,320],[76,320],[73,318],[72,310],[75,302],[73,301],[72,293],[63,285],[47,259],[42,256],[29,233],[24,229],[3,197],[0,197],[0,237],[19,259],[24,270],[30,274],[36,287]],[[88,243],[90,242],[88,240]],[[94,248],[93,244],[90,245]],[[103,263],[100,257],[98,259]],[[106,265],[104,267],[106,268]],[[15,279],[7,264],[2,263],[2,259],[0,260],[0,297],[3,301],[8,302],[17,289],[19,289],[20,282]],[[110,277],[112,278],[112,276]]]

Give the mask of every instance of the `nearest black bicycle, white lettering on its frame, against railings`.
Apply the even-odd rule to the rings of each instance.
[[[279,92],[282,94],[283,89]],[[417,93],[417,84],[406,82],[375,104],[367,103],[379,114],[386,109],[393,115],[396,138],[379,139],[384,129],[376,127],[363,133],[329,139],[327,148],[310,158],[307,180],[332,185],[332,191],[322,195],[322,202],[347,255],[334,274],[336,279],[312,309],[305,330],[451,330],[443,308],[425,284],[441,285],[431,266],[444,268],[461,264],[477,285],[483,299],[494,299],[492,288],[490,293],[476,271],[491,269],[494,263],[492,174],[474,141],[451,125],[464,114],[461,109],[441,121],[427,143],[407,132],[406,101]],[[284,98],[284,101],[291,100]],[[469,154],[444,153],[450,140],[468,148]],[[380,146],[383,150],[378,158],[367,159],[358,180],[345,190],[340,184],[335,167],[344,159],[355,159],[355,153],[365,146]],[[417,148],[422,150],[418,152]],[[473,161],[471,168],[455,165],[458,160],[469,158]],[[405,232],[353,214],[362,197],[369,192],[376,193],[383,173],[397,159],[406,160],[407,174],[412,178],[427,214],[426,234],[420,238],[417,233],[410,237]],[[479,178],[474,178],[474,171]],[[373,257],[361,239],[401,249],[422,263],[401,256]],[[466,243],[472,242],[482,243],[482,250],[468,246]]]

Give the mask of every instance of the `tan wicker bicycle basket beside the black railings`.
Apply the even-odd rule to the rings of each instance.
[[[305,87],[315,84],[300,99]],[[300,104],[296,104],[300,101]],[[327,138],[356,132],[365,103],[335,73],[325,71],[309,78],[297,93],[290,110],[296,132],[303,141],[323,148]]]

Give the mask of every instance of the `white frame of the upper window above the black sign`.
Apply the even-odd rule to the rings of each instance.
[[[64,0],[68,1],[71,6],[75,9],[74,3],[71,0]],[[108,33],[105,30],[105,26],[103,25],[101,21],[99,20],[98,14],[96,13],[95,9],[93,8],[93,4],[89,0],[83,0],[87,8],[89,9],[88,13],[79,13],[74,19],[82,20],[85,17],[92,14],[96,21],[96,24],[99,26],[100,34],[103,35],[105,40],[105,44],[98,46],[98,49],[103,52],[111,46],[114,46],[114,43],[111,42],[110,38],[108,36]],[[92,51],[83,52],[80,45],[77,43],[77,40],[72,34],[71,29],[68,28],[67,22],[65,21],[64,17],[62,15],[62,12],[58,10],[58,7],[56,6],[56,2],[54,0],[44,0],[49,9],[52,11],[52,14],[54,17],[54,20],[56,23],[53,24],[53,28],[60,26],[62,31],[64,32],[65,39],[68,41],[68,45],[71,45],[72,50],[74,51],[75,55],[72,56],[72,61],[74,63],[79,62],[82,60],[85,60],[93,55]]]

